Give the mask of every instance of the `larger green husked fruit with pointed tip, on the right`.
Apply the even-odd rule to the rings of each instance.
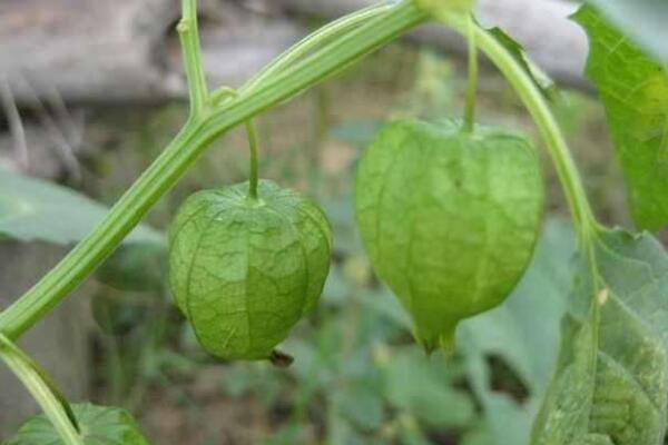
[[[429,352],[502,303],[533,253],[543,208],[530,142],[491,128],[387,125],[364,155],[356,216],[379,276]]]

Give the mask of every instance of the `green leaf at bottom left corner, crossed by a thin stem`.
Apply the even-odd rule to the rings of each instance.
[[[71,405],[86,445],[148,445],[139,426],[125,409],[89,403]],[[26,422],[3,445],[68,445],[49,419],[39,415]]]

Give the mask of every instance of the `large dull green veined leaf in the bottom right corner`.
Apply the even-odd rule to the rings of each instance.
[[[534,445],[661,445],[668,406],[668,256],[651,236],[598,234],[579,259]]]

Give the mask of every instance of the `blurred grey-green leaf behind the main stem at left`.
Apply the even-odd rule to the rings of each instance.
[[[66,187],[0,169],[0,238],[69,245],[81,240],[108,209]],[[139,226],[126,243],[165,244]]]

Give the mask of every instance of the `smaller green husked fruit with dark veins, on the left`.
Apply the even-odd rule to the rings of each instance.
[[[310,310],[330,269],[332,230],[310,199],[261,181],[193,195],[169,234],[170,286],[204,348],[265,359]]]

